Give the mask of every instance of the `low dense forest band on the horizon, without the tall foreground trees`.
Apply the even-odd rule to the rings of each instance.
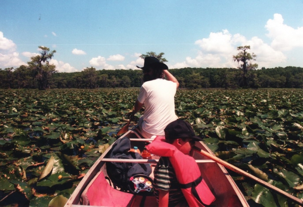
[[[236,68],[181,68],[170,69],[181,88],[239,88],[242,72]],[[38,88],[33,71],[26,66],[0,69],[0,88]],[[303,68],[262,68],[247,72],[250,88],[303,88]],[[46,84],[46,83],[45,83]],[[81,72],[53,73],[46,88],[99,88],[140,87],[141,70],[96,70],[93,67]]]

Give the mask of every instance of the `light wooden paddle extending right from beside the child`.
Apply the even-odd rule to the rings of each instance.
[[[297,197],[295,197],[295,196],[293,196],[293,195],[291,195],[289,193],[286,193],[285,191],[281,190],[280,188],[277,188],[276,186],[273,186],[273,185],[265,182],[264,180],[261,180],[260,178],[257,178],[257,177],[255,177],[253,175],[250,175],[249,173],[247,173],[247,172],[245,172],[245,171],[243,171],[243,170],[241,170],[241,169],[239,169],[239,168],[237,168],[237,167],[235,167],[235,166],[233,166],[233,165],[231,165],[231,164],[229,164],[229,163],[227,163],[227,162],[225,162],[225,161],[217,158],[216,156],[214,156],[213,154],[210,154],[209,152],[201,150],[198,147],[194,146],[194,150],[198,151],[200,154],[203,154],[205,157],[208,157],[209,159],[215,161],[216,163],[219,163],[222,166],[224,166],[224,167],[226,167],[226,168],[228,168],[228,169],[230,169],[230,170],[232,170],[232,171],[234,171],[234,172],[236,172],[238,174],[241,174],[241,175],[246,176],[246,177],[248,177],[248,178],[250,178],[252,180],[255,180],[259,184],[263,185],[264,187],[269,188],[269,189],[275,191],[276,193],[279,193],[280,195],[282,195],[282,196],[284,196],[284,197],[292,200],[293,202],[295,202],[295,203],[303,206],[303,200],[301,200],[301,199],[299,199],[299,198],[297,198]]]

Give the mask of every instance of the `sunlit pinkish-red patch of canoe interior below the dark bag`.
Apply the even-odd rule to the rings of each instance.
[[[114,189],[100,171],[83,191],[80,203],[98,206],[130,206],[133,194]]]

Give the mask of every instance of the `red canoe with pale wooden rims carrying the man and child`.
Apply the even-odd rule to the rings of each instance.
[[[122,137],[128,137],[132,146],[138,146],[142,151],[148,144],[148,139],[142,139],[134,130],[129,130]],[[112,146],[112,145],[111,145]],[[107,158],[111,146],[95,162],[85,177],[79,183],[73,194],[65,204],[66,207],[80,206],[158,206],[156,198],[152,195],[142,196],[114,189],[106,180],[106,162],[115,162]],[[211,154],[212,151],[203,143],[197,142],[196,147]],[[212,160],[204,157],[198,152],[194,152],[194,159],[198,163],[201,176],[216,197],[212,206],[249,206],[245,197],[228,174],[227,170]],[[121,162],[121,159],[120,161]],[[157,163],[155,160],[127,160],[125,162]],[[154,165],[152,165],[154,166]],[[153,173],[150,175],[153,177]]]

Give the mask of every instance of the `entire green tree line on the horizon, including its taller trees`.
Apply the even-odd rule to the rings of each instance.
[[[39,46],[40,55],[31,57],[28,65],[19,68],[0,69],[0,88],[105,88],[140,87],[141,70],[96,70],[87,67],[81,72],[58,73],[55,65],[49,64],[56,53],[48,47]],[[170,69],[178,79],[181,88],[303,88],[303,68],[276,67],[257,70],[255,54],[247,53],[249,45],[239,46],[238,55],[233,60],[238,68],[181,68]],[[155,56],[161,62],[164,53],[148,52],[141,58]]]

